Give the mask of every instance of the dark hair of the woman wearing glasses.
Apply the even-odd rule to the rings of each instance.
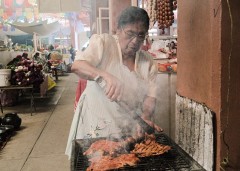
[[[127,24],[134,24],[137,22],[143,22],[144,27],[149,29],[149,16],[147,12],[139,7],[129,6],[122,11],[118,18],[118,28]]]

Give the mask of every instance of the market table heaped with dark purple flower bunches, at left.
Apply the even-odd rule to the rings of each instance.
[[[10,70],[9,74],[0,74],[1,81],[7,80],[0,86],[2,112],[3,106],[16,105],[18,102],[17,97],[20,94],[22,95],[24,91],[29,90],[32,108],[34,106],[35,93],[39,93],[41,97],[44,97],[47,91],[56,85],[51,75],[48,74],[48,71],[51,69],[49,62],[39,52],[35,53],[33,57],[28,57],[26,52],[21,55],[20,52],[15,54],[18,55],[5,65],[5,68]]]

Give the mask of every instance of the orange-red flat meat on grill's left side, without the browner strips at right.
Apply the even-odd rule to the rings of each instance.
[[[126,165],[134,166],[139,161],[135,154],[125,154],[125,147],[134,139],[115,142],[110,140],[98,140],[91,144],[83,154],[89,157],[91,165],[87,171],[105,171],[117,169]]]

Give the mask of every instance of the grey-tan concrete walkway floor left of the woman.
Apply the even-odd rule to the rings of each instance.
[[[69,171],[64,154],[73,117],[77,76],[60,76],[46,97],[35,95],[36,112],[31,116],[30,99],[20,99],[4,114],[17,112],[21,129],[0,151],[1,171]]]

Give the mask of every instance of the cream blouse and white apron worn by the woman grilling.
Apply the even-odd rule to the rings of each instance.
[[[92,35],[89,47],[77,52],[75,60],[88,61],[121,80],[124,85],[121,100],[138,114],[141,114],[144,97],[156,95],[156,63],[147,52],[138,51],[135,70],[130,71],[122,63],[122,53],[115,35]],[[136,131],[136,124],[125,110],[106,97],[95,81],[88,81],[74,114],[66,154],[71,155],[71,143],[75,138],[132,135]]]

